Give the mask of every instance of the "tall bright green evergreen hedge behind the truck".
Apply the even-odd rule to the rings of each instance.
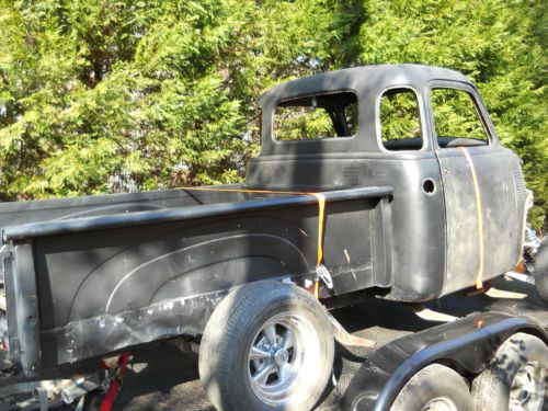
[[[238,181],[267,88],[419,62],[475,80],[538,227],[546,26],[525,0],[0,0],[0,201]]]

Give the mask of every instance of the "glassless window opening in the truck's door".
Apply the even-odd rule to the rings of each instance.
[[[460,89],[434,88],[431,95],[435,138],[441,148],[490,144],[478,103],[471,93]]]

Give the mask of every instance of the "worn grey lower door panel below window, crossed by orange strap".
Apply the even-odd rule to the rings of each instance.
[[[470,165],[458,148],[438,151],[445,193],[447,271],[444,294],[512,270],[520,259],[523,214],[514,184],[518,159],[503,148],[467,148],[478,179],[481,220]],[[524,195],[524,193],[522,194]],[[479,236],[482,224],[483,238]],[[483,241],[482,266],[480,241]]]

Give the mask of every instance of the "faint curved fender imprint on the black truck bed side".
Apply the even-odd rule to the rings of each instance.
[[[89,318],[92,312],[116,313],[127,309],[186,296],[229,289],[259,279],[302,276],[312,271],[316,250],[308,238],[265,232],[235,233],[206,241],[181,243],[168,252],[144,259],[121,271],[125,250],[99,265],[73,298],[69,319]],[[115,274],[115,275],[112,275]],[[106,279],[105,279],[106,278]],[[90,305],[79,298],[98,289],[103,293]]]

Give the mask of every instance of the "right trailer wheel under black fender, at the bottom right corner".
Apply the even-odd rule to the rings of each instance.
[[[541,411],[543,402],[546,403],[547,367],[548,349],[540,339],[523,332],[512,335],[472,383],[475,411]],[[522,380],[530,385],[522,387]],[[518,398],[522,406],[516,403]]]

